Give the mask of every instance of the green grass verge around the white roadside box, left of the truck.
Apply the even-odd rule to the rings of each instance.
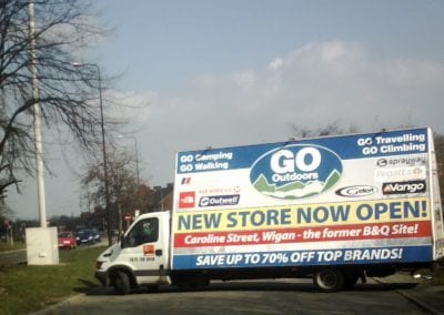
[[[0,314],[29,314],[98,286],[95,260],[103,250],[60,251],[54,266],[0,267]]]

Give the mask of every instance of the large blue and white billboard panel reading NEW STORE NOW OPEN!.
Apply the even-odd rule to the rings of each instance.
[[[173,268],[430,262],[432,146],[410,129],[180,152]]]

